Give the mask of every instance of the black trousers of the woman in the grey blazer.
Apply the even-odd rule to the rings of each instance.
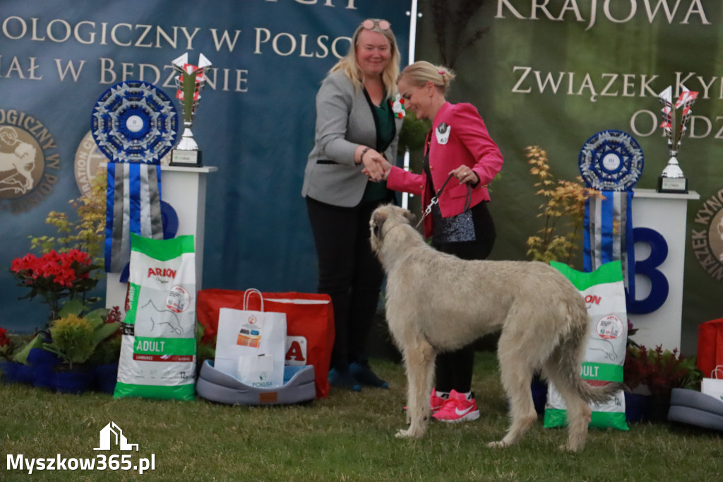
[[[335,340],[331,367],[345,370],[368,356],[367,343],[384,279],[369,244],[372,211],[386,201],[342,208],[307,196],[319,262],[320,293],[330,295]]]

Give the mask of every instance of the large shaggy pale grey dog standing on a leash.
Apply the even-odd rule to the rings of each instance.
[[[407,417],[397,436],[419,438],[429,419],[435,356],[502,330],[497,348],[510,428],[490,447],[515,444],[537,420],[530,384],[542,369],[568,407],[566,449],[585,446],[589,402],[620,384],[592,388],[580,369],[588,314],[576,287],[556,269],[529,261],[463,261],[429,247],[406,209],[381,206],[370,221],[372,248],[387,273],[387,321],[404,357]]]

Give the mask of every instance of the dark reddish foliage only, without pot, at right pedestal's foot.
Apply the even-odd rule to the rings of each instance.
[[[642,344],[628,344],[623,364],[623,383],[628,389],[647,387],[650,393],[669,397],[674,388],[698,389],[703,373],[696,367],[695,357],[683,357],[662,345],[648,350]]]

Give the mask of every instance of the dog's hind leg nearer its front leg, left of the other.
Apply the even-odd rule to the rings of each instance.
[[[487,444],[489,447],[509,447],[516,444],[537,420],[530,386],[534,368],[527,360],[531,350],[524,350],[518,341],[503,332],[498,342],[500,378],[510,399],[510,429],[505,438],[490,442]]]

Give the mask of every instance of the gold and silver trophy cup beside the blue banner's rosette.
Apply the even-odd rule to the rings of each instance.
[[[206,84],[203,70],[211,66],[211,62],[203,55],[198,55],[198,65],[188,63],[188,54],[183,54],[171,62],[179,75],[176,77],[176,98],[181,101],[183,110],[183,135],[171,154],[171,166],[200,167],[201,151],[193,138],[191,126],[196,114],[196,107],[201,98],[201,89]]]

